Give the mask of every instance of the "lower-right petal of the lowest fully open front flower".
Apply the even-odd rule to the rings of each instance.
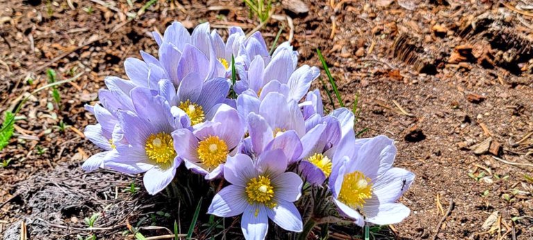
[[[267,208],[270,219],[281,228],[291,232],[302,232],[302,216],[294,203],[285,200],[278,201],[276,207]]]

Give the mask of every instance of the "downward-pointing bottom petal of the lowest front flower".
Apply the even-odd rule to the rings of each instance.
[[[263,240],[267,237],[269,217],[264,205],[248,205],[242,213],[241,228],[244,238]]]

